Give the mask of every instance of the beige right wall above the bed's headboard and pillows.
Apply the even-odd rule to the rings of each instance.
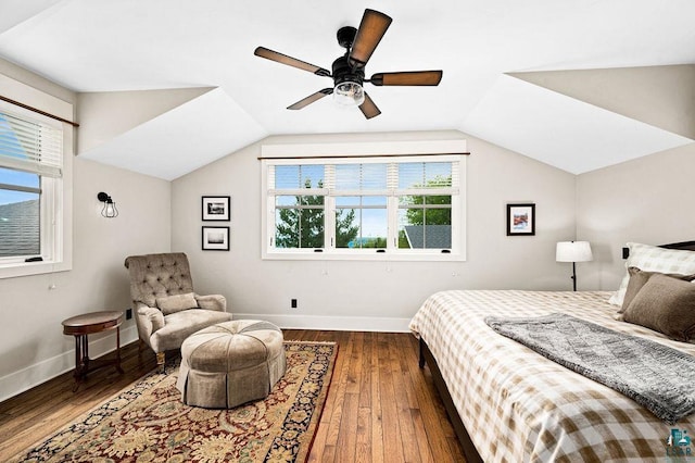
[[[695,240],[695,143],[577,178],[577,238],[594,262],[578,264],[585,289],[615,290],[624,273],[626,242]]]

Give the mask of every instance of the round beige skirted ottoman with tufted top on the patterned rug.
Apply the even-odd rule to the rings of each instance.
[[[184,341],[176,387],[188,405],[231,409],[267,397],[285,368],[280,328],[256,320],[224,322]]]

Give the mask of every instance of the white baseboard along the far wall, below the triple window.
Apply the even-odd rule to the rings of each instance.
[[[321,329],[331,331],[409,333],[410,318],[374,316],[278,315],[235,313],[233,320],[264,320],[286,329]]]

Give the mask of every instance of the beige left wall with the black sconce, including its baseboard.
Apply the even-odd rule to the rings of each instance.
[[[74,103],[71,91],[0,60],[0,73]],[[118,217],[102,217],[99,191],[116,201]],[[0,401],[68,371],[75,341],[61,322],[97,310],[130,305],[128,254],[170,249],[170,184],[75,158],[72,216],[73,270],[0,279]],[[55,289],[49,289],[54,285]],[[137,338],[132,321],[123,342]],[[115,336],[90,337],[90,353],[115,347]]]

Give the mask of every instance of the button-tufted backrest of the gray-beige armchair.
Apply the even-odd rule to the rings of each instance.
[[[134,302],[155,306],[155,299],[193,292],[188,258],[182,252],[130,255],[125,262],[130,272]]]

